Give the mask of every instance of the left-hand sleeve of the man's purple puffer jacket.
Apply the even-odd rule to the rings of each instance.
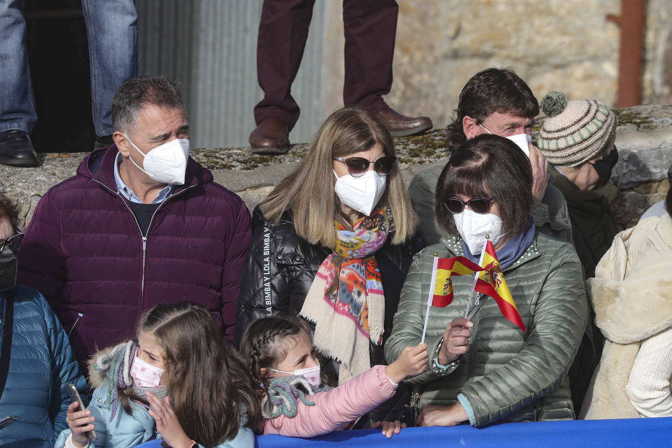
[[[52,191],[40,199],[19,249],[17,283],[37,289],[60,315],[65,286],[65,256],[60,247],[60,219],[54,211]]]

